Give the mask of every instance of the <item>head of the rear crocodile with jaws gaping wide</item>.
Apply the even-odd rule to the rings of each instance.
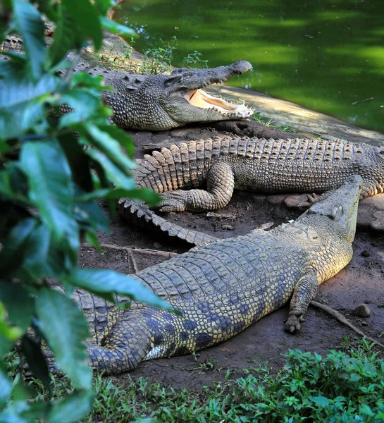
[[[213,122],[252,116],[252,109],[213,97],[203,88],[222,83],[252,67],[247,61],[211,69],[176,69],[171,75],[132,75],[104,71],[106,85],[115,91],[104,99],[114,111],[112,120],[123,128],[168,130],[194,122]]]

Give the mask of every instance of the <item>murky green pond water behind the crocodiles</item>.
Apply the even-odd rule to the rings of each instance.
[[[116,20],[140,51],[175,35],[175,66],[247,60],[230,85],[384,132],[384,0],[125,0]]]

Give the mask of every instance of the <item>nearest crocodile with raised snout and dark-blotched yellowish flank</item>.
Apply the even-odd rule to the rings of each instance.
[[[134,301],[123,309],[76,290],[92,333],[91,366],[118,374],[143,360],[208,348],[289,301],[285,330],[299,331],[318,285],[352,259],[363,186],[360,176],[349,176],[296,221],[194,247],[137,272],[180,314]]]

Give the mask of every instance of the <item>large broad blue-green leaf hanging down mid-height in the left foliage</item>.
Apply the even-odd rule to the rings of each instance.
[[[70,166],[57,140],[25,142],[20,162],[30,186],[30,200],[58,239],[70,237],[76,248],[73,183]]]

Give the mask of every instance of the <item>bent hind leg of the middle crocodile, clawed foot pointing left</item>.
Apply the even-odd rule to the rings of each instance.
[[[203,212],[222,209],[229,202],[235,188],[235,178],[228,163],[218,161],[208,171],[206,190],[175,190],[164,192],[157,208],[160,212]]]

